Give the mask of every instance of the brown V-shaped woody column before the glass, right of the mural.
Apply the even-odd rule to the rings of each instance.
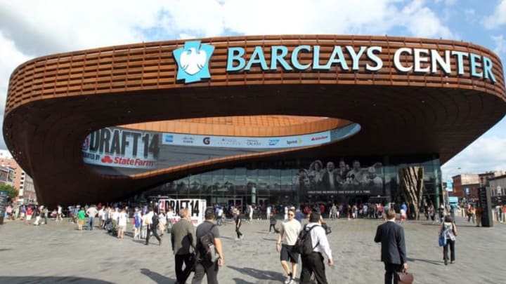
[[[398,169],[401,194],[405,201],[415,207],[415,219],[418,219],[418,208],[422,203],[422,195],[425,190],[424,168],[408,167]]]

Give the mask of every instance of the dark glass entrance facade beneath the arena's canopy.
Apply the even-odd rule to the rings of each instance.
[[[410,166],[424,168],[424,198],[439,204],[441,168],[438,156],[431,154],[257,161],[188,175],[143,196],[202,198],[208,204],[233,205],[398,203],[402,201],[398,169]]]

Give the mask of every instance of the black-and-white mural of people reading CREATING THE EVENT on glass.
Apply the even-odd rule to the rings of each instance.
[[[351,167],[343,159],[336,164],[315,160],[299,170],[299,189],[305,194],[370,195],[383,194],[382,163],[363,167],[358,160]],[[380,174],[378,174],[380,173]]]

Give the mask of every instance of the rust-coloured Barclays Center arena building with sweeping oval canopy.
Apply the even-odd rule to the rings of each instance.
[[[35,58],[4,137],[46,205],[401,202],[506,114],[502,63],[462,41],[233,36]],[[37,141],[34,143],[33,141]]]

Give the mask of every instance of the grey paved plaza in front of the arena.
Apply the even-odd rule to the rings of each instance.
[[[383,283],[380,245],[372,241],[381,223],[375,219],[328,221],[335,259],[334,266],[326,266],[329,283]],[[457,225],[456,263],[445,266],[438,225],[404,224],[415,283],[505,283],[506,225],[478,228],[463,218],[457,219]],[[231,222],[219,229],[225,260],[220,283],[283,283],[276,236],[267,234],[266,220],[244,222],[242,241],[235,241]],[[152,238],[148,246],[131,236],[129,231],[118,240],[100,229],[77,231],[67,221],[41,226],[6,222],[0,226],[0,283],[174,283],[169,235],[162,237],[162,245]]]

